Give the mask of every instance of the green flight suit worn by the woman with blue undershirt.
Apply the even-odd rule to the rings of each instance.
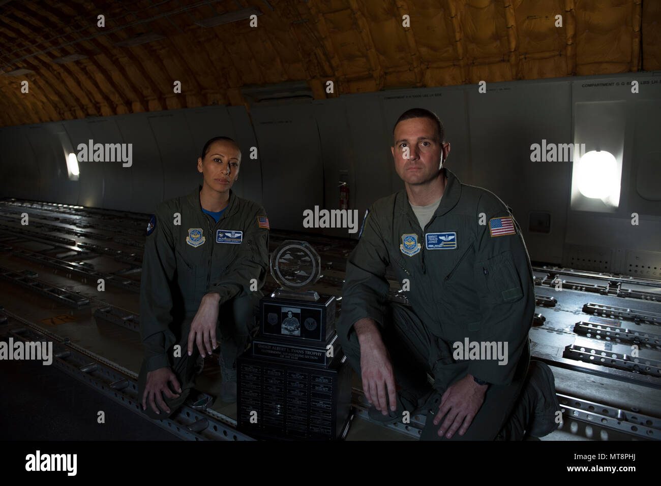
[[[233,366],[249,345],[268,269],[268,219],[260,205],[229,192],[229,203],[216,223],[202,212],[198,186],[190,194],[157,206],[145,240],[140,283],[140,335],[145,347],[138,393],[142,401],[147,372],[170,366],[183,393],[165,402],[183,403],[194,385],[200,353],[188,357],[188,331],[202,297],[220,295],[220,338],[225,365]],[[179,223],[179,224],[175,224]],[[251,289],[252,287],[252,289]],[[174,346],[180,345],[181,357]],[[165,414],[147,414],[163,419]]]

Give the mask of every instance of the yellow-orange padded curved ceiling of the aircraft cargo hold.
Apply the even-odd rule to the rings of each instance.
[[[0,0],[0,125],[653,71],[660,30],[660,0]]]

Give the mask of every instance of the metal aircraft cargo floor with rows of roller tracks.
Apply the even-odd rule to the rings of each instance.
[[[28,226],[20,225],[24,211]],[[206,411],[182,409],[171,421],[151,421],[136,410],[143,353],[138,289],[148,220],[123,211],[0,201],[0,319],[6,318],[0,339],[52,340],[61,356],[56,366],[0,361],[0,382],[10,391],[0,405],[5,438],[249,439],[235,430],[236,405],[219,399]],[[319,252],[323,277],[314,288],[340,296],[356,240],[272,230],[270,250],[286,239],[307,240]],[[529,334],[531,353],[551,366],[564,419],[542,440],[661,439],[661,282],[533,267],[539,315]],[[393,298],[401,298],[389,276]],[[104,292],[97,291],[99,277]],[[562,291],[555,290],[559,280]],[[275,288],[269,277],[264,293]],[[631,356],[632,345],[639,346],[639,357]],[[219,384],[214,354],[197,386],[217,397]],[[355,374],[353,386],[356,415],[346,440],[416,439],[424,417],[411,417],[410,425],[373,423]],[[109,427],[97,424],[99,410]]]

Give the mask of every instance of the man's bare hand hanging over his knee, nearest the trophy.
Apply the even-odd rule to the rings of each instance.
[[[354,324],[360,343],[360,370],[362,372],[363,391],[366,398],[383,415],[388,414],[388,402],[390,409],[397,409],[397,397],[395,396],[395,374],[390,361],[388,350],[385,349],[381,333],[377,323],[369,318],[360,319]]]

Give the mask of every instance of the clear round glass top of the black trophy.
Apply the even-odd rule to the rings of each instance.
[[[280,289],[274,297],[297,300],[319,300],[319,294],[306,287],[321,277],[321,258],[307,242],[286,240],[271,254],[271,275]]]

